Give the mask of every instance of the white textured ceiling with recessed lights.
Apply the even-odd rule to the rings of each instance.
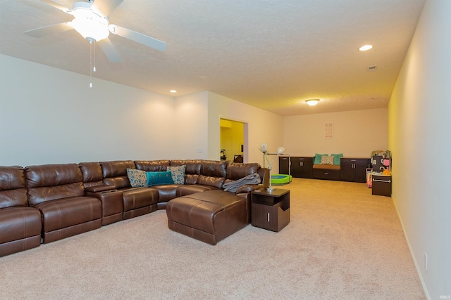
[[[125,0],[110,22],[168,46],[110,34],[122,62],[98,47],[95,77],[171,96],[211,91],[285,116],[387,107],[424,1]],[[89,43],[75,30],[23,34],[71,15],[2,0],[0,16],[0,53],[89,74]],[[358,51],[364,44],[374,48]]]

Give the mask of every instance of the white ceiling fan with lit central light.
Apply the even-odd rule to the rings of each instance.
[[[108,38],[110,32],[159,51],[166,50],[166,43],[164,41],[148,37],[147,35],[128,30],[127,28],[118,25],[109,24],[110,13],[118,7],[123,0],[95,0],[95,3],[94,0],[87,0],[86,2],[80,1],[75,2],[72,9],[66,8],[53,0],[41,1],[54,8],[58,8],[64,13],[73,15],[74,19],[71,22],[58,23],[24,32],[30,37],[45,37],[48,34],[76,30],[90,43],[94,41],[99,42],[101,49],[111,63],[121,62],[121,56]]]

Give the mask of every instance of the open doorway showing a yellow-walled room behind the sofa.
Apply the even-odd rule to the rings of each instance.
[[[221,160],[244,162],[245,123],[220,119]]]

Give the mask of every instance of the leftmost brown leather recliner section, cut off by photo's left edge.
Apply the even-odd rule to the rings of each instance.
[[[0,257],[41,244],[41,213],[28,206],[23,167],[0,167]]]

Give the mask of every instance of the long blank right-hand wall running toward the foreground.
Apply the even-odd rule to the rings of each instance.
[[[450,13],[426,1],[388,107],[393,202],[429,299],[451,296]]]

